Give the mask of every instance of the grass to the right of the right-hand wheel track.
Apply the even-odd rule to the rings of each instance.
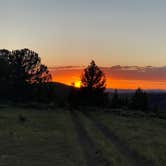
[[[111,113],[93,113],[119,138],[156,166],[166,162],[166,120],[152,117],[123,117]]]

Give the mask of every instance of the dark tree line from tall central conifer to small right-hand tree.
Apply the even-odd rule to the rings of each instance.
[[[106,89],[106,77],[100,68],[92,60],[90,65],[84,69],[81,77],[81,88],[73,89],[71,94],[72,104],[104,106],[109,108],[123,108],[147,111],[149,109],[148,95],[141,88],[138,88],[132,96],[122,97],[115,89],[109,95]]]

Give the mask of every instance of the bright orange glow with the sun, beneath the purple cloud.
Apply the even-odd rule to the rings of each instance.
[[[69,86],[74,85],[77,88],[81,86],[81,74],[82,69],[74,70],[55,70],[51,71],[53,82],[60,82]],[[147,80],[126,80],[126,79],[116,79],[111,78],[106,74],[106,88],[112,89],[137,89],[138,87],[142,89],[166,89],[166,82],[164,81],[147,81]]]

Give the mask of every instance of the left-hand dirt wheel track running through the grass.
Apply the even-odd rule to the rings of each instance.
[[[75,111],[71,111],[71,117],[78,134],[78,141],[84,151],[87,166],[111,166],[110,162],[102,156],[102,152],[97,149],[93,140],[88,136],[87,131]]]

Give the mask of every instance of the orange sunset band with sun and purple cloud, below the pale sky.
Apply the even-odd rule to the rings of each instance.
[[[80,86],[85,66],[61,66],[50,68],[53,81]],[[106,76],[106,87],[112,89],[166,90],[166,67],[112,66],[100,67]]]

